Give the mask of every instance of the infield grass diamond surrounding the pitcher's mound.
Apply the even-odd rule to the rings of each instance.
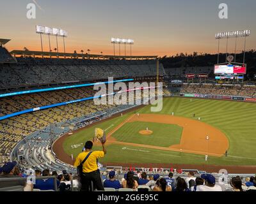
[[[152,135],[141,135],[143,129],[153,131]],[[182,127],[154,122],[127,122],[112,135],[116,140],[129,143],[170,147],[179,144]]]

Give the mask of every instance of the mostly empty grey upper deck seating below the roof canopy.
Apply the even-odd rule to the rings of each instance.
[[[156,61],[17,58],[0,65],[0,89],[20,85],[61,84],[92,80],[156,76]],[[164,75],[160,65],[159,75]]]

